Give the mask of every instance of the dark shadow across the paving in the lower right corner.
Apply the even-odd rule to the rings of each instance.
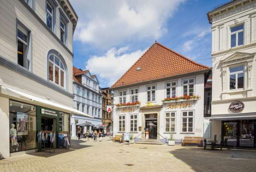
[[[186,147],[169,151],[196,172],[255,171],[255,150],[228,150]],[[254,162],[254,163],[253,163]]]

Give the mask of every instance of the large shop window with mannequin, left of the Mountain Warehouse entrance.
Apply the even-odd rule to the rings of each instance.
[[[10,101],[10,152],[36,148],[36,107]]]

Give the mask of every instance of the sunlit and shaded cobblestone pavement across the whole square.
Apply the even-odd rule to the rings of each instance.
[[[255,172],[256,150],[72,140],[72,149],[0,160],[0,172]]]

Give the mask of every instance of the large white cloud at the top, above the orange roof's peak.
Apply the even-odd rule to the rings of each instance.
[[[79,20],[75,40],[98,48],[125,41],[156,40],[185,0],[70,0]]]

